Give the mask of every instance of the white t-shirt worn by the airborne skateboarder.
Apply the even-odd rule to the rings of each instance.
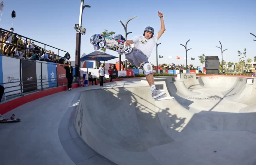
[[[134,42],[134,47],[140,49],[148,58],[150,57],[156,42],[157,42],[157,33],[151,38],[146,39],[144,36],[136,36],[132,40]]]

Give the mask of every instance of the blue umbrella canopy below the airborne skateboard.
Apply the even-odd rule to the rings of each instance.
[[[80,60],[81,61],[108,61],[115,58],[118,58],[118,57],[112,56],[104,52],[94,51],[90,54],[83,56]]]

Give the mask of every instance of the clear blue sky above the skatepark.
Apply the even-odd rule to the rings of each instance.
[[[247,57],[253,59],[256,56],[256,42],[253,41],[255,37],[250,35],[256,35],[255,0],[131,0],[105,3],[106,1],[102,0],[84,1],[84,5],[90,5],[91,8],[85,8],[83,11],[82,26],[87,30],[81,39],[81,55],[94,51],[89,43],[92,34],[101,33],[106,29],[124,35],[119,20],[125,23],[135,15],[137,17],[127,25],[127,32],[132,32],[127,39],[142,35],[146,26],[153,26],[158,32],[160,19],[157,11],[160,11],[163,13],[166,31],[158,41],[161,43],[158,46],[158,55],[163,56],[158,58],[158,64],[177,63],[176,56],[181,57],[178,63],[185,63],[185,48],[180,44],[185,44],[189,39],[187,47],[192,49],[188,51],[188,64],[192,63],[194,66],[201,65],[198,56],[203,53],[206,56],[219,56],[221,59],[221,51],[215,47],[220,46],[219,41],[223,49],[228,49],[223,53],[225,61],[238,62],[237,50],[243,52],[244,48],[247,49]],[[3,29],[9,30],[11,27],[12,10],[16,12],[13,23],[15,33],[68,51],[71,60],[75,60],[74,25],[79,21],[79,0],[5,0],[0,23]],[[107,50],[106,53],[118,57],[114,51]],[[64,54],[60,52],[61,56]],[[169,59],[168,56],[173,58]],[[191,60],[191,57],[195,60]],[[115,60],[118,58],[107,63]],[[156,65],[156,48],[149,61]]]

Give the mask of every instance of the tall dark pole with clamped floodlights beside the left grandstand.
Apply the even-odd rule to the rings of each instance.
[[[81,7],[80,7],[80,14],[79,14],[79,24],[75,24],[75,31],[78,33],[76,34],[76,64],[75,66],[79,67],[79,69],[76,69],[76,76],[80,77],[80,51],[81,51],[81,34],[85,34],[86,29],[82,29],[82,15],[83,15],[83,9],[84,8],[90,8],[91,6],[89,5],[83,5],[83,1],[81,0]]]

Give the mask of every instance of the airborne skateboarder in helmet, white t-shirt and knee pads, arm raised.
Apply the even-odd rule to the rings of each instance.
[[[154,34],[154,29],[151,26],[147,26],[144,30],[143,36],[136,36],[132,40],[127,40],[126,45],[134,44],[132,51],[128,54],[125,54],[127,60],[141,67],[144,73],[146,74],[146,79],[152,91],[152,99],[160,97],[165,92],[162,92],[155,88],[154,77],[153,77],[153,67],[148,62],[156,42],[162,36],[163,32],[166,30],[163,22],[163,14],[158,11],[158,16],[161,20],[161,29],[158,33]]]

